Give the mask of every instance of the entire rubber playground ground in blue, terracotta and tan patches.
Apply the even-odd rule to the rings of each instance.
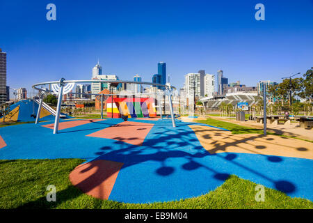
[[[81,158],[73,185],[99,199],[173,201],[206,194],[230,174],[313,201],[312,143],[232,134],[170,119],[62,120],[0,128],[0,159]],[[53,182],[51,182],[53,184]]]

